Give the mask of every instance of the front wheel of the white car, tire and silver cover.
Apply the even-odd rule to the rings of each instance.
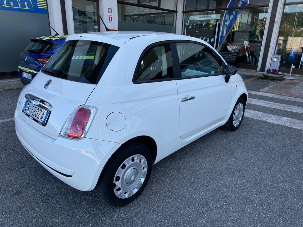
[[[234,109],[231,112],[230,117],[228,118],[228,121],[225,123],[225,125],[222,126],[222,128],[227,131],[237,130],[242,123],[244,112],[245,112],[245,101],[242,97],[239,97],[239,99],[235,104]]]

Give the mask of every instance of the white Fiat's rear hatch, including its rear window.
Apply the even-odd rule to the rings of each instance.
[[[117,50],[116,46],[96,41],[65,42],[22,93],[18,104],[22,118],[56,139],[69,115],[85,104]],[[31,100],[32,104],[46,105],[40,105],[42,113],[49,112],[40,122],[32,112],[34,109],[26,112],[25,105]],[[48,118],[43,121],[46,114]]]

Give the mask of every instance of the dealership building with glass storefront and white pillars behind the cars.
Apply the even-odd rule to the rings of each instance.
[[[99,15],[110,30],[202,39],[238,68],[303,75],[303,0],[0,0],[0,79],[31,38],[105,31]]]

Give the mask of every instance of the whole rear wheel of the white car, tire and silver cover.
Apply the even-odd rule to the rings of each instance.
[[[151,174],[152,156],[142,143],[122,145],[106,164],[96,193],[105,203],[125,206],[145,188]]]

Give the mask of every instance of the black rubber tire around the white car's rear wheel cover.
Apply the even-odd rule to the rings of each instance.
[[[145,176],[145,180],[142,183],[141,187],[138,189],[138,191],[135,192],[135,194],[125,199],[119,198],[115,195],[113,189],[113,180],[115,174],[118,168],[123,164],[126,159],[137,154],[144,156],[145,160],[147,161],[147,173]],[[97,193],[98,197],[102,198],[104,202],[108,205],[125,206],[128,203],[134,201],[141,194],[151,175],[151,168],[152,156],[145,145],[138,142],[130,142],[124,144],[113,154],[110,160],[108,160],[108,163],[104,167],[100,179],[97,183],[95,192]]]

